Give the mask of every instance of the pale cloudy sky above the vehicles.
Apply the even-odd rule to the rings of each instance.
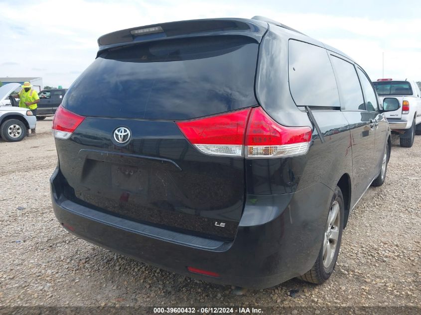
[[[93,62],[103,34],[142,25],[263,15],[333,46],[374,81],[421,81],[416,0],[0,0],[0,77],[42,77],[68,88]]]

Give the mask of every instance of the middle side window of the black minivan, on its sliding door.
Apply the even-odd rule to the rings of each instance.
[[[335,56],[332,56],[331,60],[335,68],[338,88],[341,91],[342,107],[365,110],[363,92],[354,65]]]

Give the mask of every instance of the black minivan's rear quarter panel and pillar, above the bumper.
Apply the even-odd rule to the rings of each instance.
[[[288,83],[288,40],[305,40],[321,45],[307,36],[270,25],[259,50],[256,95],[260,105],[284,126],[309,126],[313,141],[309,152],[300,157],[248,160],[247,193],[285,194],[304,189],[316,182],[334,189],[344,173],[352,178],[352,153],[348,122],[340,110],[313,110],[326,142],[313,128],[304,110],[292,100]],[[265,178],[270,180],[265,180]]]

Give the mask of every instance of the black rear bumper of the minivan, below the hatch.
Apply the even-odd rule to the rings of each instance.
[[[278,285],[311,268],[322,243],[332,194],[326,186],[315,184],[294,194],[248,196],[237,235],[227,242],[81,206],[64,197],[61,178],[56,169],[50,179],[52,204],[58,221],[71,233],[165,270],[253,289]],[[319,199],[311,200],[309,194]],[[188,266],[218,273],[220,277],[190,273]]]

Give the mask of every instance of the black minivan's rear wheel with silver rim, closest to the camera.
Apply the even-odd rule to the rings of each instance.
[[[337,215],[339,215],[339,218],[335,216],[333,219],[333,225],[330,225],[330,218],[331,213],[334,213],[334,209],[337,211]],[[332,212],[333,211],[333,212]],[[317,256],[316,262],[314,263],[313,267],[309,271],[307,271],[305,274],[299,277],[299,279],[315,283],[315,284],[322,284],[325,282],[329,277],[332,275],[333,270],[335,269],[336,260],[338,258],[339,254],[339,248],[341,246],[341,239],[342,239],[342,231],[343,231],[343,222],[344,222],[344,201],[341,189],[336,186],[335,192],[332,197],[332,201],[330,202],[330,209],[327,215],[327,222],[326,226],[324,227],[324,238],[323,238],[323,244],[320,248],[319,254]],[[335,233],[333,233],[335,232]],[[328,234],[329,233],[329,234]],[[330,235],[330,236],[329,236]],[[334,246],[334,249],[332,251],[331,249],[331,255],[324,257],[324,249],[327,249],[328,246],[332,246],[333,242],[331,240],[334,240],[334,235],[337,235],[336,245]],[[326,245],[326,247],[325,247]],[[327,254],[327,251],[326,251]]]

